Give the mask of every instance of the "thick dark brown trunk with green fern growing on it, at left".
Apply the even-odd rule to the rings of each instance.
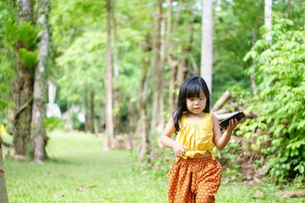
[[[32,1],[23,0],[18,3],[18,22],[28,22],[33,19],[32,16]],[[15,86],[12,88],[12,97],[15,104],[15,111],[12,124],[13,130],[13,144],[15,154],[25,156],[26,140],[29,139],[30,123],[32,120],[32,102],[33,102],[33,85],[34,73],[33,69],[26,69],[23,66],[22,60],[18,57],[18,49],[24,48],[22,42],[17,42],[17,47],[14,50],[17,58],[16,72],[18,78]]]

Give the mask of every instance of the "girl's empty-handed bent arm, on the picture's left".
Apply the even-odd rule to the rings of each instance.
[[[168,121],[166,127],[163,130],[162,136],[160,138],[160,143],[169,148],[173,148],[176,157],[184,156],[188,147],[181,145],[171,139],[172,134],[175,131],[175,125],[173,117]]]

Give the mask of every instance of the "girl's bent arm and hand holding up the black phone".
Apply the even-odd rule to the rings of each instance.
[[[236,118],[234,120],[231,119],[224,134],[221,133],[219,121],[215,115],[212,116],[212,122],[214,124],[213,142],[219,150],[223,150],[230,141],[233,129],[241,122],[241,120],[238,122]]]

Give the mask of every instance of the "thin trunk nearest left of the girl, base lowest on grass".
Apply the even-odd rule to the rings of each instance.
[[[150,51],[149,46],[149,35],[146,36],[146,47],[145,52]],[[150,162],[150,153],[151,153],[151,145],[148,134],[148,125],[147,125],[147,115],[146,115],[146,92],[147,92],[147,72],[148,67],[150,65],[148,57],[143,57],[142,59],[142,76],[140,82],[140,120],[141,120],[141,139],[142,146],[139,156],[139,167],[142,167],[143,160],[145,159],[145,155],[148,155],[148,161]]]

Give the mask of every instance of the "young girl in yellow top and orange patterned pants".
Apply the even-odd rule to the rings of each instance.
[[[213,148],[224,149],[240,121],[230,120],[222,135],[218,119],[209,110],[210,93],[203,78],[186,79],[179,90],[177,110],[160,139],[176,155],[167,178],[169,202],[215,202],[222,172]],[[170,139],[174,132],[176,141]]]

